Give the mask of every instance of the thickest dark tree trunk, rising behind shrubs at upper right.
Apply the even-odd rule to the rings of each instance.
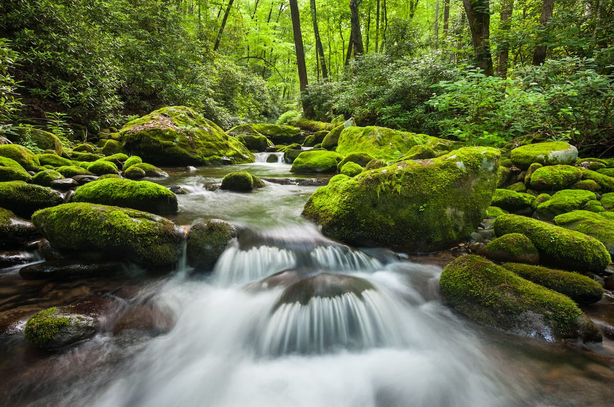
[[[492,55],[489,44],[491,14],[488,0],[463,0],[467,21],[471,30],[471,42],[475,63],[492,76]]]

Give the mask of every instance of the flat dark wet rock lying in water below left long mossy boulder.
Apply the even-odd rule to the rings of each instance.
[[[83,260],[60,259],[22,267],[19,275],[25,280],[111,277],[124,271],[125,267],[125,264],[117,261],[95,263]]]

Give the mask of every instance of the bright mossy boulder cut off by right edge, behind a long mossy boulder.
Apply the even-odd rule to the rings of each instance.
[[[604,243],[614,256],[614,219],[593,211],[577,210],[555,216],[554,224],[589,235]]]

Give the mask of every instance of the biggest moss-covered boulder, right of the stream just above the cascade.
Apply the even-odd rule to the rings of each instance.
[[[353,245],[442,250],[466,239],[484,219],[498,164],[499,151],[475,147],[398,162],[317,189],[303,215]]]

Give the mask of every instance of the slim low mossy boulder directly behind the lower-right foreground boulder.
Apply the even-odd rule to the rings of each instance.
[[[593,304],[604,296],[602,286],[586,275],[532,264],[505,263],[502,266],[523,279],[565,294],[578,304]]]

